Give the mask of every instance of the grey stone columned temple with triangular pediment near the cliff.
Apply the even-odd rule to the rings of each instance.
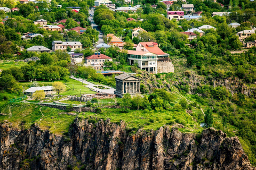
[[[140,94],[140,78],[130,74],[121,74],[115,77],[116,90],[115,95],[123,97],[124,94],[136,95]]]

